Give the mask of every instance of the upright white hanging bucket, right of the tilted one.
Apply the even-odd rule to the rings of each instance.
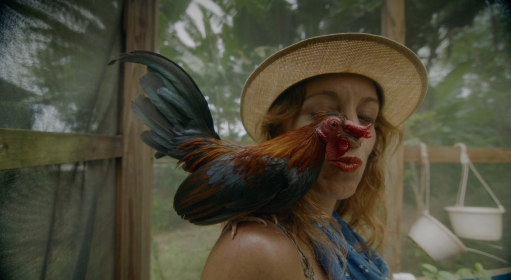
[[[504,207],[445,207],[456,235],[462,238],[497,241],[502,238]]]

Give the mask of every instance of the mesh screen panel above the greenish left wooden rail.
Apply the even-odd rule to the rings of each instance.
[[[73,2],[0,4],[0,127],[117,132],[121,4]]]

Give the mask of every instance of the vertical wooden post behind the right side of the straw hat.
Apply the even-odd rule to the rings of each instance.
[[[382,35],[401,44],[405,43],[404,0],[384,0],[382,3]],[[401,208],[403,200],[404,149],[387,158],[386,178],[387,227],[390,230],[382,257],[392,272],[401,270]]]

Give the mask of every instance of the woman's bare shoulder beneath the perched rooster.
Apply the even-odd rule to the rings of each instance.
[[[204,271],[207,279],[303,279],[296,247],[274,223],[238,224],[234,239],[231,230],[218,238]]]

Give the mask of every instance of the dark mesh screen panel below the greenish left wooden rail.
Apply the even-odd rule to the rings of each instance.
[[[115,160],[0,171],[2,279],[113,279]]]

